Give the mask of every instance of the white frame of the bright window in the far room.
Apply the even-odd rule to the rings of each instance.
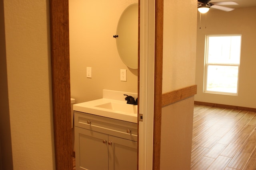
[[[208,63],[208,47],[209,47],[209,37],[224,37],[224,36],[240,36],[240,61],[241,61],[241,46],[242,46],[242,35],[241,34],[223,34],[223,35],[206,35],[205,37],[205,55],[204,55],[204,86],[203,92],[204,93],[212,93],[212,94],[224,94],[224,95],[233,95],[238,96],[238,84],[239,84],[239,71],[240,71],[240,61],[239,64],[226,64],[226,63]],[[207,75],[208,75],[208,66],[209,65],[216,65],[216,66],[238,66],[238,80],[237,80],[237,90],[236,93],[231,92],[217,92],[217,91],[210,91],[207,89]]]

